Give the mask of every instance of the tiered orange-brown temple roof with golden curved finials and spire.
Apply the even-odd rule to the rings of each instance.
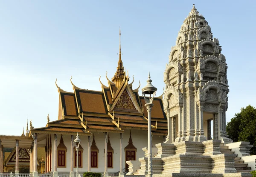
[[[88,135],[90,132],[122,132],[124,129],[147,130],[148,113],[145,108],[144,97],[139,96],[140,86],[133,90],[132,84],[128,84],[130,77],[123,70],[121,59],[121,46],[117,71],[108,80],[108,86],[100,81],[102,91],[81,89],[73,86],[74,92],[67,92],[59,88],[59,114],[58,120],[47,123],[44,128],[36,128],[32,131],[56,131],[62,134]],[[154,98],[151,111],[152,134],[167,134],[167,119],[163,111],[162,95]]]

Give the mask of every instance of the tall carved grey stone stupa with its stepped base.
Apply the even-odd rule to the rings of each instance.
[[[153,177],[250,177],[255,170],[249,142],[233,143],[227,136],[229,86],[221,50],[193,5],[164,71],[168,136],[152,150]],[[127,162],[128,175],[147,175],[144,151],[140,163]]]

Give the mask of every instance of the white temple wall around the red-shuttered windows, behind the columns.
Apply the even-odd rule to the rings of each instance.
[[[108,168],[108,172],[117,172],[120,169],[120,134],[119,133],[109,133],[110,136],[110,142],[111,146],[114,150],[113,152],[113,168]],[[66,168],[57,168],[58,172],[70,172],[70,135],[63,135],[64,144],[67,147],[67,153],[66,153]],[[87,171],[87,151],[88,151],[88,137],[87,136],[79,136],[81,139],[81,146],[84,148],[83,151],[83,166],[82,168],[79,168],[79,171]],[[123,133],[123,141],[122,141],[122,166],[125,168],[125,147],[128,145],[130,137],[130,130],[125,130]],[[141,157],[144,157],[144,151],[142,148],[147,147],[148,145],[148,136],[147,131],[145,130],[131,130],[131,137],[133,141],[133,145],[137,148],[137,154],[136,154],[136,160],[138,160]],[[76,135],[74,136],[74,139],[76,138]],[[58,140],[57,140],[57,146],[59,144],[59,141],[61,139],[61,135],[58,134]],[[91,144],[93,141],[93,137],[91,137]],[[96,146],[99,148],[99,154],[98,154],[98,168],[91,168],[91,171],[93,172],[103,172],[104,166],[105,166],[105,154],[104,154],[104,148],[105,148],[105,139],[104,139],[104,133],[96,132],[95,133],[95,142]],[[155,147],[155,144],[157,143],[163,143],[163,136],[154,135],[152,144],[153,147]],[[54,169],[54,135],[52,134],[52,169]],[[76,171],[76,168],[74,168],[73,171]]]

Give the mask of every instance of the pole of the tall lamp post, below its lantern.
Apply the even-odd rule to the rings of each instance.
[[[151,110],[153,104],[145,104],[148,111],[148,177],[152,177],[152,151],[151,151]]]

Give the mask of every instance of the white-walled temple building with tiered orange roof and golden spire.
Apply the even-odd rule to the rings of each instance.
[[[120,32],[121,36],[121,32]],[[45,127],[33,128],[30,136],[37,139],[34,146],[45,147],[45,171],[70,173],[76,168],[74,135],[79,134],[79,171],[104,172],[105,176],[128,171],[126,161],[144,157],[147,146],[148,114],[144,97],[124,70],[119,46],[117,70],[108,86],[102,91],[81,89],[70,79],[73,92],[62,90],[59,94],[58,120],[49,121]],[[151,114],[152,146],[163,143],[167,135],[167,118],[163,111],[162,95],[154,98]],[[107,150],[105,151],[105,148]],[[35,147],[31,148],[35,154]],[[105,153],[107,153],[105,155]],[[105,166],[105,160],[108,161]],[[120,163],[121,161],[121,163]],[[34,164],[34,162],[32,162]],[[31,171],[34,167],[31,166]],[[71,172],[70,172],[71,171]],[[75,170],[76,171],[76,170]]]

